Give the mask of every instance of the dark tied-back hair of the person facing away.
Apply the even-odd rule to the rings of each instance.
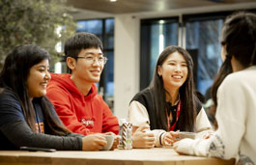
[[[222,28],[221,44],[226,46],[227,56],[213,82],[212,96],[215,106],[218,87],[233,72],[232,56],[243,68],[256,65],[256,14],[240,12],[228,16]]]

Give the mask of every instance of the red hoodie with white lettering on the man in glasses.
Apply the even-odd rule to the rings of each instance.
[[[111,131],[118,134],[118,119],[112,115],[102,97],[97,95],[95,84],[90,94],[83,96],[71,80],[71,74],[51,73],[47,96],[62,122],[72,132],[88,135]]]

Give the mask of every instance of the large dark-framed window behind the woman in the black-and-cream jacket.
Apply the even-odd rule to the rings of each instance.
[[[193,74],[196,89],[205,95],[222,64],[219,37],[223,21],[233,12],[184,14],[180,15],[180,19],[178,16],[142,19],[140,90],[150,84],[159,52],[168,45],[184,43],[183,46],[194,62]],[[178,23],[179,20],[181,23]]]

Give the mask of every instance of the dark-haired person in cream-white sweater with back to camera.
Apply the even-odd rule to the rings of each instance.
[[[256,14],[228,16],[221,35],[225,59],[213,83],[218,128],[209,139],[184,139],[178,152],[256,163]],[[228,68],[233,72],[229,73]]]

